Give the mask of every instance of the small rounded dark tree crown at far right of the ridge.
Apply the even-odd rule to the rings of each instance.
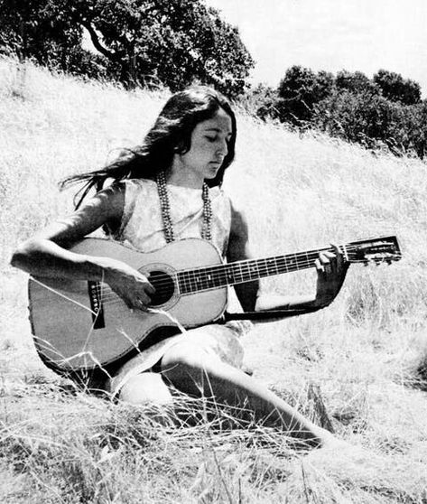
[[[421,102],[421,88],[418,82],[404,79],[399,73],[388,70],[378,70],[374,82],[382,90],[383,96],[391,101],[404,105]]]

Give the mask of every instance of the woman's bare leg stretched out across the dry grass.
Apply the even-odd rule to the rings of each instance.
[[[330,432],[311,423],[254,378],[194,343],[173,346],[163,356],[161,365],[162,376],[185,394],[213,397],[219,404],[244,408],[242,415],[247,420],[280,428],[314,446],[334,439]]]

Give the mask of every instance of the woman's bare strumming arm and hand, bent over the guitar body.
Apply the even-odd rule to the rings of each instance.
[[[68,250],[105,224],[119,225],[124,202],[124,189],[98,192],[80,210],[23,242],[14,252],[11,264],[39,277],[104,281],[129,307],[144,308],[154,292],[144,275],[109,257],[85,256]]]

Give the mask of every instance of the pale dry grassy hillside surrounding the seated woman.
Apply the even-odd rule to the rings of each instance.
[[[404,258],[351,266],[320,313],[257,325],[255,377],[357,448],[295,451],[266,428],[175,428],[73,390],[32,346],[15,245],[71,209],[66,174],[137,144],[164,92],[125,92],[0,60],[0,499],[45,502],[427,501],[425,163],[238,117],[225,189],[244,207],[255,256],[397,234]],[[305,293],[311,271],[265,282]],[[313,394],[314,391],[314,394]],[[190,403],[183,407],[191,408]],[[361,449],[363,447],[363,450]]]

